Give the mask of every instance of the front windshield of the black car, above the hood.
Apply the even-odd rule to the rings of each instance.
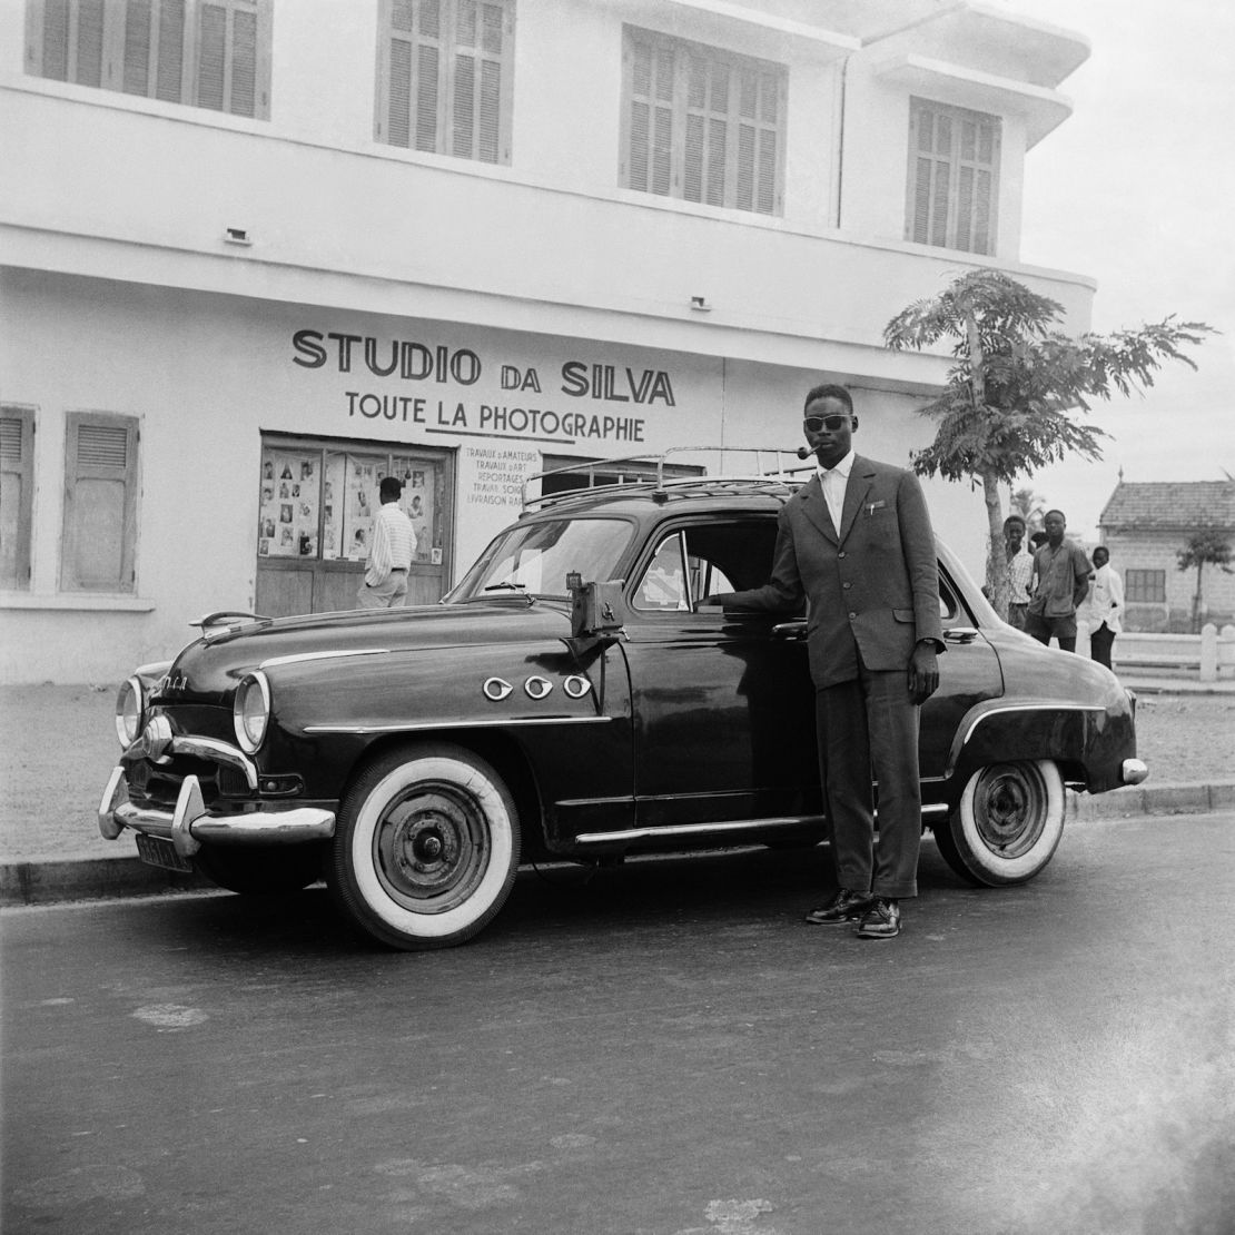
[[[516,524],[480,555],[447,600],[452,604],[499,595],[569,595],[566,577],[584,583],[613,578],[632,525],[625,519],[558,519]]]

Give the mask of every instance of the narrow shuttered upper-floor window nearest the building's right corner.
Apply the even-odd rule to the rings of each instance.
[[[909,100],[905,238],[994,253],[1000,120],[924,99]]]

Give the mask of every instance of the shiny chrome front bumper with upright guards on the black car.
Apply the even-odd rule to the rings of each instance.
[[[116,767],[107,778],[99,803],[99,831],[114,841],[126,827],[147,836],[169,840],[177,853],[191,858],[201,842],[211,845],[300,845],[326,841],[335,835],[335,813],[319,806],[261,809],[242,814],[207,811],[201,784],[186,776],[175,809],[154,810],[128,800],[125,769]]]

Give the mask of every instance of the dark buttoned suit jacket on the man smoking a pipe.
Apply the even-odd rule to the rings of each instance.
[[[772,579],[720,598],[726,608],[800,613],[816,688],[869,669],[908,669],[923,638],[944,647],[939,561],[921,485],[911,472],[853,457],[840,530],[819,477],[782,508]]]

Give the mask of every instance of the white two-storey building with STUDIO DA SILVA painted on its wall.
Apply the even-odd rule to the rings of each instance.
[[[905,304],[994,266],[1088,325],[1018,252],[1087,54],[935,0],[0,0],[0,677],[350,608],[385,471],[432,600],[527,473],[793,448],[816,382],[905,462]]]

